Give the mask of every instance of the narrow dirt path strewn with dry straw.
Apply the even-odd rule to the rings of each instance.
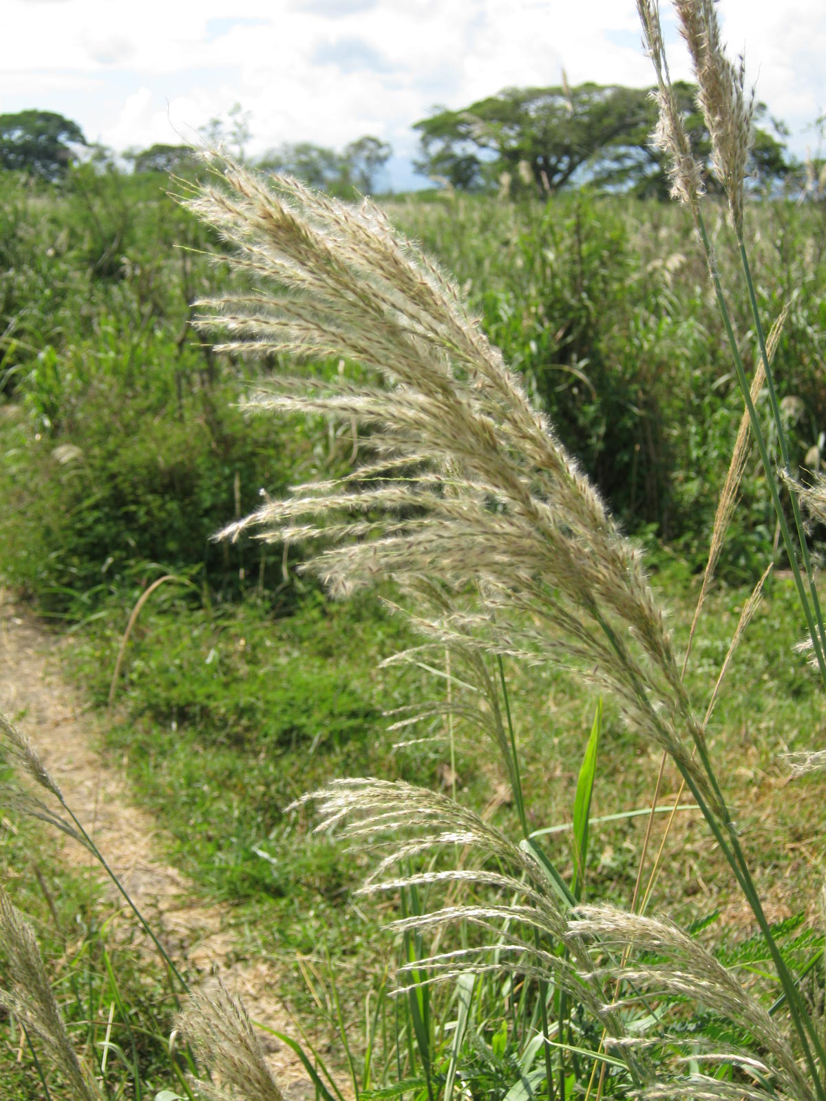
[[[96,717],[62,680],[57,645],[0,589],[0,710],[30,737],[66,803],[176,963],[204,975],[217,966],[253,1021],[296,1035],[278,996],[283,981],[279,968],[265,960],[232,959],[228,908],[204,904],[193,884],[164,862],[159,854],[162,838],[153,819],[131,805],[127,777],[104,764],[96,753]],[[63,842],[63,857],[77,866],[87,866],[90,861],[88,853],[68,839]],[[133,920],[113,887],[111,893],[112,902],[123,908],[123,919]],[[306,1071],[290,1048],[265,1033],[259,1035],[291,1101],[312,1097]]]

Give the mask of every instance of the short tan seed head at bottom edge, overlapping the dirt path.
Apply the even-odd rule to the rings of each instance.
[[[261,1045],[240,1000],[232,998],[219,979],[195,991],[177,1028],[218,1082],[191,1076],[198,1097],[208,1101],[284,1101],[270,1073]],[[224,1086],[221,1082],[226,1082]]]

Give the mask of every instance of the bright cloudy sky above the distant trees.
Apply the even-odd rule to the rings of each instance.
[[[724,40],[790,148],[826,111],[826,2],[721,0]],[[666,3],[672,75],[688,78]],[[633,0],[0,0],[0,113],[56,111],[122,152],[197,140],[235,103],[249,156],[283,142],[393,146],[382,186],[426,183],[411,129],[506,87],[645,87]]]

